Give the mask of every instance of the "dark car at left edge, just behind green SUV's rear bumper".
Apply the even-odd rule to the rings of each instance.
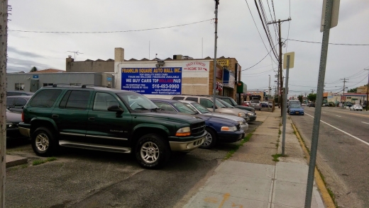
[[[6,139],[27,138],[19,132],[19,122],[22,122],[22,114],[6,109]]]

